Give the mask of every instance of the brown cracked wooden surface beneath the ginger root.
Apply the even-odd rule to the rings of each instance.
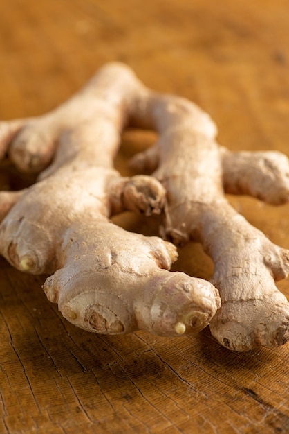
[[[288,8],[286,0],[2,0],[0,118],[44,113],[121,60],[147,85],[199,103],[228,148],[289,155]],[[122,173],[152,140],[125,134]],[[1,174],[1,185],[17,182]],[[289,248],[289,205],[230,200]],[[131,214],[115,221],[157,230]],[[289,345],[234,354],[208,329],[194,338],[95,336],[62,318],[41,277],[0,266],[1,434],[289,432]],[[212,263],[191,243],[175,269],[209,278]],[[289,297],[289,280],[279,288]]]

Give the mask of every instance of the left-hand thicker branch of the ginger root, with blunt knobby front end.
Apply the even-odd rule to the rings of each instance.
[[[165,206],[156,179],[113,168],[137,91],[129,69],[109,64],[55,111],[0,123],[2,156],[41,172],[28,189],[0,193],[0,252],[19,270],[50,275],[48,299],[78,327],[195,333],[220,306],[216,288],[169,272],[177,257],[171,243],[109,220],[124,209],[150,215]]]

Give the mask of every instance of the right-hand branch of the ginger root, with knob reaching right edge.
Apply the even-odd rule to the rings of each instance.
[[[166,238],[176,245],[200,241],[214,261],[211,282],[221,295],[221,308],[209,325],[213,336],[235,351],[285,344],[289,302],[274,281],[288,275],[289,251],[240,216],[224,189],[274,205],[288,202],[288,158],[218,146],[212,119],[184,98],[140,85],[134,107],[133,123],[159,134],[131,165],[153,171],[167,191]]]

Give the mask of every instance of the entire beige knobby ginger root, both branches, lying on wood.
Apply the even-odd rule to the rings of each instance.
[[[133,166],[153,172],[167,192],[162,233],[176,245],[200,241],[212,257],[211,282],[222,302],[216,315],[214,286],[160,270],[175,255],[171,244],[109,223],[122,209],[149,214],[164,205],[162,199],[155,204],[159,193],[147,194],[139,184],[124,193],[133,178],[123,180],[113,171],[127,125],[158,132],[157,143],[136,155]],[[94,324],[97,331],[143,328],[176,335],[192,329],[193,318],[203,327],[214,315],[212,334],[229,349],[289,340],[289,303],[275,286],[288,275],[288,250],[250,225],[224,195],[248,194],[275,205],[288,201],[285,155],[232,153],[219,146],[216,125],[205,112],[185,98],[152,92],[122,64],[104,67],[54,112],[2,123],[0,130],[0,151],[20,170],[46,168],[23,198],[5,193],[1,199],[2,214],[17,202],[0,227],[1,253],[19,269],[55,272],[44,288],[66,318],[80,327]],[[198,320],[202,315],[205,320]]]

